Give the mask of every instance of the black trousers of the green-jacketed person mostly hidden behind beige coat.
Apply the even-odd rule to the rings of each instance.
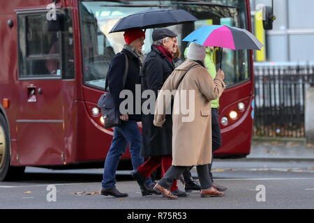
[[[211,140],[212,140],[212,151],[213,153],[211,154],[211,157],[214,157],[214,151],[217,151],[222,144],[221,141],[221,133],[220,133],[220,126],[219,126],[219,121],[218,121],[218,109],[211,109]],[[211,164],[213,160],[211,160]],[[213,174],[211,174],[211,164],[208,164],[208,169],[209,169],[209,176],[211,177],[211,182],[213,181]],[[192,174],[190,173],[190,169],[192,167],[185,169],[183,176],[184,180],[188,180],[192,177]]]

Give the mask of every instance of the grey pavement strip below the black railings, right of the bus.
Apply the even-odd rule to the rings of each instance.
[[[254,139],[246,159],[314,162],[314,144],[306,144],[305,139]]]

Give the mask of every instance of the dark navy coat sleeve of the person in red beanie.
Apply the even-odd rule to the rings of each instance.
[[[122,66],[123,64],[123,66]],[[110,63],[110,68],[107,72],[108,86],[110,93],[114,99],[114,105],[119,108],[123,98],[119,98],[120,92],[124,89],[123,75],[126,64],[124,54],[117,54]]]

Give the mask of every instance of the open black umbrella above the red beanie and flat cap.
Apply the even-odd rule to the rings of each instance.
[[[114,25],[110,33],[125,31],[131,28],[151,29],[195,21],[197,21],[197,18],[183,9],[149,8],[121,18],[121,20]]]

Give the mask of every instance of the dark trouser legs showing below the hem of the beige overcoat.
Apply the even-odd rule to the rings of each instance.
[[[170,190],[170,187],[173,183],[173,180],[176,180],[179,178],[179,176],[186,170],[189,169],[190,167],[178,167],[178,166],[171,166],[163,178],[158,182],[158,184],[162,187],[165,187],[167,190]],[[208,165],[200,165],[196,166],[197,169],[197,175],[200,180],[200,185],[202,190],[203,189],[209,189],[212,187],[212,182],[211,178],[209,177],[209,172],[208,172]]]

